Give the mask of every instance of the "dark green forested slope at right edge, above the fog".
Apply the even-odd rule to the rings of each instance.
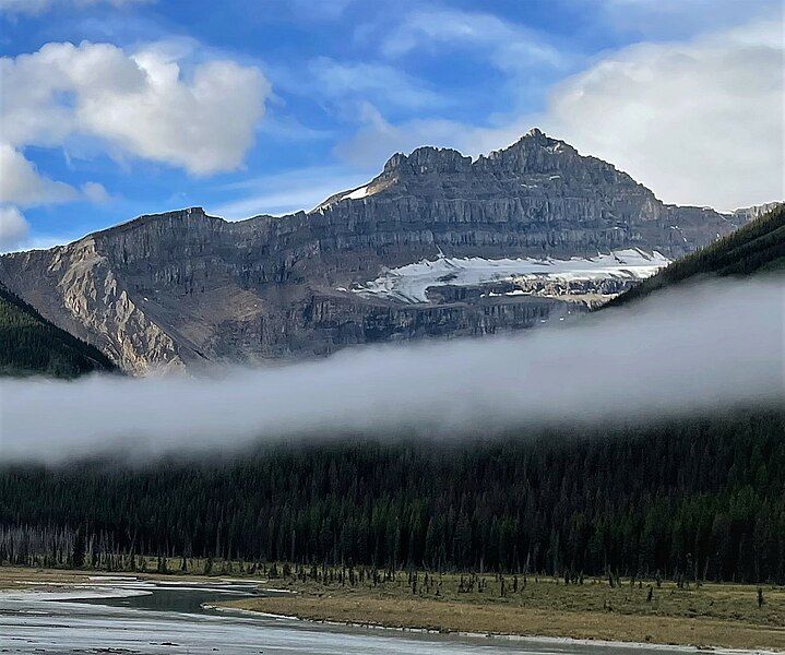
[[[675,261],[605,307],[622,305],[702,275],[752,275],[775,271],[785,271],[785,204]]]

